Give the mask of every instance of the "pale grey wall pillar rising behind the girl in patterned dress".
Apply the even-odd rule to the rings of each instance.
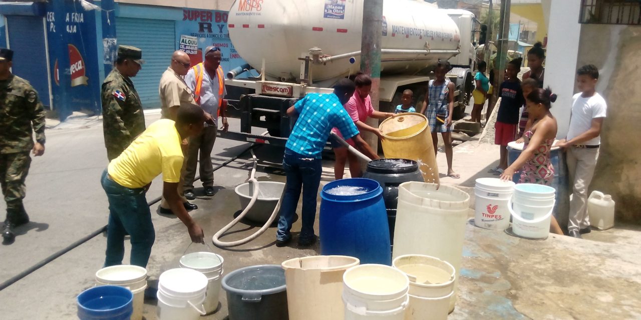
[[[552,1],[550,25],[552,32],[547,38],[545,58],[545,86],[558,95],[552,113],[558,122],[558,138],[565,138],[570,124],[570,109],[574,85],[577,56],[579,52],[579,8],[581,0]],[[595,46],[594,48],[599,48]]]

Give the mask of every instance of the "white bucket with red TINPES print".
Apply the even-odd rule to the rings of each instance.
[[[491,230],[505,230],[510,227],[508,200],[513,189],[512,181],[496,178],[476,179],[474,225]]]

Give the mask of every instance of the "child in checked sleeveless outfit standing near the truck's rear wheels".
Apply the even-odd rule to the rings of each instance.
[[[432,132],[434,152],[438,154],[438,132],[441,132],[445,143],[447,158],[447,177],[458,179],[461,176],[452,169],[452,111],[454,109],[454,83],[445,77],[449,63],[438,62],[434,75],[428,83],[428,94],[420,113],[428,117],[429,129]],[[426,112],[427,111],[427,112]]]

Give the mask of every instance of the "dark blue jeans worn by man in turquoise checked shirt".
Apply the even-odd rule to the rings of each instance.
[[[285,149],[283,169],[287,175],[287,186],[285,186],[285,196],[280,209],[276,239],[284,241],[292,237],[290,230],[301,190],[303,191],[303,213],[301,214],[303,227],[299,239],[310,239],[314,236],[316,196],[319,191],[320,173],[322,173],[320,159],[305,157]]]

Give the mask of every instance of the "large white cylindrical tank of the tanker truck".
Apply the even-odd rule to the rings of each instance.
[[[363,1],[237,0],[229,9],[229,38],[238,54],[276,79],[299,80],[301,61],[310,49],[322,55],[347,54],[343,59],[315,64],[313,79],[322,81],[356,73],[360,66]],[[383,3],[382,49],[426,50],[428,54],[384,52],[381,72],[415,74],[456,54],[460,31],[444,10],[424,1]],[[260,50],[256,50],[260,48]],[[447,52],[438,52],[447,51]],[[354,61],[349,58],[353,54]]]

